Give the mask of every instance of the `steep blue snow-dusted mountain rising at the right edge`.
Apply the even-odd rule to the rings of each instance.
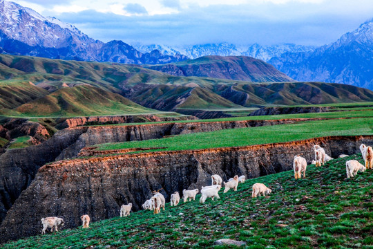
[[[373,89],[373,19],[332,44],[269,61],[298,81],[352,84]]]

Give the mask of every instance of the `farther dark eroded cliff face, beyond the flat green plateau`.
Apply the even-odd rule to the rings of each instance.
[[[0,223],[21,192],[30,185],[37,169],[54,160],[73,158],[88,146],[105,142],[148,140],[164,136],[242,127],[285,124],[298,120],[246,120],[187,122],[66,128],[37,146],[10,149],[0,154]]]

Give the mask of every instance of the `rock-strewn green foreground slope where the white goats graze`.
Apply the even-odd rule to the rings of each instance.
[[[281,172],[249,179],[220,200],[180,203],[153,215],[132,213],[10,242],[3,248],[234,248],[213,246],[216,239],[247,242],[246,248],[372,248],[372,170],[346,179],[345,161],[307,167],[307,178]],[[265,183],[272,194],[251,198],[251,185]],[[278,227],[285,224],[285,227]]]

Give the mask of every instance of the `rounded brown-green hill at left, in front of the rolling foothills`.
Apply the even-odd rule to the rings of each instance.
[[[24,116],[93,116],[155,113],[122,95],[94,86],[80,85],[59,89],[44,98],[17,107]]]

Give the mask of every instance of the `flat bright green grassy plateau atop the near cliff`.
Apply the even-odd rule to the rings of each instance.
[[[224,129],[154,140],[99,145],[99,149],[162,147],[164,151],[260,145],[322,136],[372,135],[373,118],[318,120],[265,127]],[[229,139],[228,139],[229,138]]]

